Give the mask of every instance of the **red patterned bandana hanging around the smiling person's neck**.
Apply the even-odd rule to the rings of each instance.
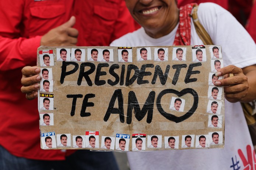
[[[191,40],[191,20],[190,14],[193,5],[187,4],[179,9],[179,26],[173,42],[173,46],[189,46]]]

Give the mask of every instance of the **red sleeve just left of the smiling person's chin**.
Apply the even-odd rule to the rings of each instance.
[[[121,0],[118,11],[118,19],[115,22],[115,30],[111,37],[111,42],[129,32],[133,32],[134,30],[135,21],[131,17],[131,14],[126,7],[125,1]]]

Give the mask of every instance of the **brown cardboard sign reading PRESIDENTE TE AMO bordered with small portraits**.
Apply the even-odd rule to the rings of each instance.
[[[38,66],[42,149],[224,147],[220,46],[39,47]]]

